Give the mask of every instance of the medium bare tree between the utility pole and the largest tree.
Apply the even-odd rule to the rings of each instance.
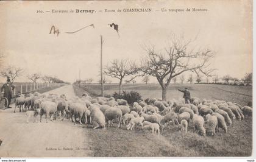
[[[119,94],[121,94],[122,91],[122,83],[125,77],[131,76],[136,73],[136,66],[134,63],[129,62],[127,59],[123,60],[113,60],[111,62],[111,65],[106,66],[104,69],[104,74],[110,77],[115,77],[119,79]],[[133,80],[135,77],[132,77],[132,79],[128,80],[129,82]]]

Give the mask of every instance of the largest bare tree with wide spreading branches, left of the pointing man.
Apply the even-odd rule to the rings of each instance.
[[[210,66],[208,61],[215,54],[213,51],[210,49],[198,49],[195,51],[194,48],[189,49],[188,47],[191,44],[191,40],[183,41],[183,38],[173,38],[164,52],[156,51],[154,46],[146,47],[145,50],[148,55],[141,61],[141,71],[157,78],[162,87],[163,100],[166,99],[166,90],[172,78],[187,71],[210,76],[210,73],[215,70],[208,69]]]

